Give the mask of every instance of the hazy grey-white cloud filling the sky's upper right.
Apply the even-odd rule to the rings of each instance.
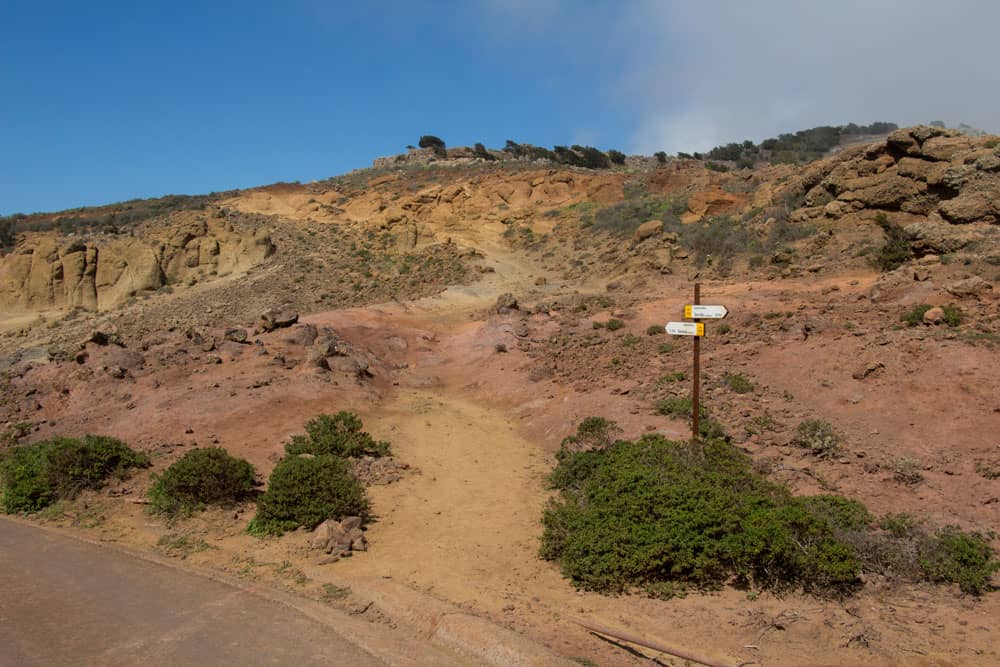
[[[548,39],[599,29],[599,46],[563,46],[610,62],[595,91],[621,101],[627,148],[644,153],[876,120],[1000,129],[996,0],[642,0],[585,12],[547,0],[537,14],[524,0],[484,2]]]

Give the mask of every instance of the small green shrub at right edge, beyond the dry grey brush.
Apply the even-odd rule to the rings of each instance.
[[[990,590],[993,573],[1000,570],[1000,561],[993,557],[985,536],[965,533],[954,526],[938,532],[920,564],[930,581],[958,584],[963,593],[971,595]]]

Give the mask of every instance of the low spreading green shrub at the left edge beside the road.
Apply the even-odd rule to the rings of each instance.
[[[106,436],[55,437],[17,445],[0,454],[0,508],[8,514],[36,512],[84,489],[98,489],[112,476],[149,466],[149,457]]]

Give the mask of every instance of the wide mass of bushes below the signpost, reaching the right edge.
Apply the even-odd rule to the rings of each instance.
[[[842,595],[868,572],[981,595],[1000,571],[988,536],[928,531],[906,514],[876,520],[841,496],[793,496],[725,440],[608,440],[563,447],[549,477],[560,493],[543,514],[541,555],[580,588],[663,597],[734,583]]]

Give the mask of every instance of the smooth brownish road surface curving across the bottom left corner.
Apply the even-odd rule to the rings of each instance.
[[[224,583],[6,520],[0,545],[4,667],[384,664]]]

